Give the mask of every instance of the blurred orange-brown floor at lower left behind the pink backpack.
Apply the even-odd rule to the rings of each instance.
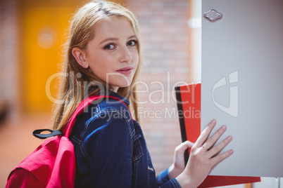
[[[32,135],[39,128],[50,128],[49,114],[30,114],[0,125],[0,187],[5,187],[11,170],[44,140]]]

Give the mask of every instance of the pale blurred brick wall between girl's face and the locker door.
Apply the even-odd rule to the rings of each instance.
[[[142,32],[144,83],[137,86],[139,100],[146,104],[139,105],[139,116],[159,173],[170,166],[174,149],[182,142],[173,86],[189,78],[189,5],[187,0],[127,0],[127,6]]]

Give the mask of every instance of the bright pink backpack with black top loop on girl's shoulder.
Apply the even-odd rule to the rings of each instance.
[[[50,137],[27,156],[8,176],[7,187],[74,187],[75,184],[75,150],[69,135],[76,116],[94,100],[113,98],[112,96],[92,95],[82,100],[63,130],[49,130],[50,134],[41,135],[44,130],[34,130],[39,138]],[[124,105],[125,103],[122,102]],[[127,107],[127,105],[126,105]],[[51,137],[54,136],[54,137]]]

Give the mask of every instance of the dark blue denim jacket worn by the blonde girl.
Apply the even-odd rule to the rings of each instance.
[[[117,93],[109,95],[130,104]],[[169,180],[168,170],[156,178],[142,129],[121,102],[108,98],[89,105],[77,116],[70,140],[77,161],[75,187],[180,187]]]

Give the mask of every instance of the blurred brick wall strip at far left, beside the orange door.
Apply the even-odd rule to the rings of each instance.
[[[6,102],[10,119],[18,116],[18,2],[0,1],[0,102]]]

